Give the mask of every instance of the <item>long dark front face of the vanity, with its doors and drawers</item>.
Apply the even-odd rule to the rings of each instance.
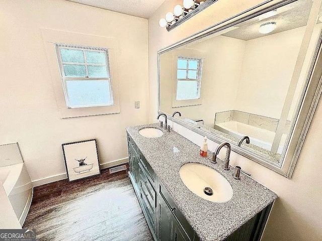
[[[128,151],[129,177],[154,239],[162,241],[199,240],[129,136]],[[186,230],[189,230],[189,234]]]

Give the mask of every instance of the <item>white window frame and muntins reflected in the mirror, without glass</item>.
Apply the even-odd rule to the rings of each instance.
[[[178,60],[187,60],[187,68],[185,69],[180,69],[178,68]],[[190,79],[188,78],[188,72],[189,70],[196,71],[196,69],[189,69],[189,60],[195,60],[198,61],[198,66],[197,66],[197,78],[196,79]],[[201,76],[202,76],[202,58],[191,58],[191,57],[184,57],[184,56],[178,56],[177,58],[177,71],[178,70],[186,70],[186,78],[185,79],[178,79],[177,75],[177,91],[176,91],[176,100],[189,100],[189,99],[199,99],[200,98],[200,89],[201,89]],[[197,81],[197,97],[196,98],[183,98],[179,99],[178,98],[178,81]]]

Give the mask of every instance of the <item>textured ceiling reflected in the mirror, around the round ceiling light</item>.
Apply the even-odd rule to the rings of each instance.
[[[261,21],[259,20],[259,17],[255,17],[236,25],[236,27],[238,27],[237,29],[227,32],[223,34],[223,36],[247,41],[305,26],[307,24],[311,6],[311,1],[299,0],[293,4],[279,8],[277,10],[277,15],[273,17]],[[265,35],[259,33],[258,30],[261,24],[267,22],[276,22],[276,29]]]

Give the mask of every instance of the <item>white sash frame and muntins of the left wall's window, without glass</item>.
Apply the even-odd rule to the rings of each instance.
[[[67,107],[68,108],[83,108],[83,107],[96,107],[96,106],[113,105],[114,104],[114,98],[113,98],[112,78],[111,78],[111,71],[110,71],[108,49],[95,48],[95,47],[84,47],[84,46],[73,46],[73,45],[65,45],[65,44],[55,44],[55,45],[56,45],[56,53],[57,53],[57,59],[58,59],[59,69],[60,69],[60,76],[61,76],[61,81],[62,81],[62,85],[63,85],[63,91],[64,91],[64,96],[65,96],[65,101],[66,101]],[[61,52],[60,52],[61,49],[74,49],[74,50],[83,51],[84,62],[85,63],[63,62],[62,58],[61,58]],[[85,54],[86,50],[105,53],[106,64],[89,64],[89,63],[87,63],[86,54]],[[85,65],[86,77],[66,77],[65,72],[64,72],[63,64]],[[106,78],[89,77],[88,66],[106,66],[107,73],[108,73],[108,75],[110,77],[106,77]],[[73,81],[107,80],[107,81],[109,81],[111,103],[109,103],[109,104],[84,104],[84,105],[76,105],[76,106],[73,105],[73,106],[71,106],[70,101],[69,101],[68,91],[67,91],[66,80],[73,80]]]

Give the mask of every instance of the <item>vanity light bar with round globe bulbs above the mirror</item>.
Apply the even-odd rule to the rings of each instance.
[[[183,0],[183,7],[181,5],[175,6],[173,13],[169,12],[165,18],[160,19],[159,26],[166,27],[170,31],[217,1]]]

